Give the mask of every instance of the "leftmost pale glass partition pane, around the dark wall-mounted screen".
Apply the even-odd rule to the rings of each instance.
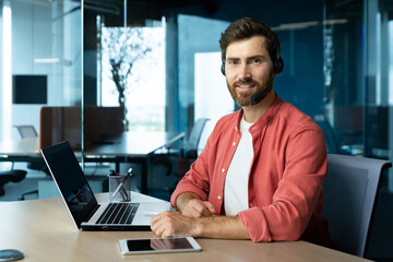
[[[80,4],[73,1],[0,3],[4,141],[20,139],[15,126],[29,124],[39,133],[43,107],[81,107],[82,26]]]

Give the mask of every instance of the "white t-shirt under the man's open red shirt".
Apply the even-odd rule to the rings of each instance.
[[[252,123],[240,121],[241,139],[230,162],[224,186],[225,214],[235,216],[248,209],[248,180],[253,157],[252,136],[248,131]]]

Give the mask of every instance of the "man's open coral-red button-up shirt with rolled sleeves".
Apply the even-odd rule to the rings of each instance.
[[[179,194],[194,192],[214,204],[217,214],[225,214],[225,177],[241,136],[241,117],[239,110],[219,119],[201,155],[177,186],[174,206]],[[327,245],[327,225],[321,216],[327,169],[323,131],[276,95],[249,132],[253,144],[249,209],[238,215],[251,240],[302,238]]]

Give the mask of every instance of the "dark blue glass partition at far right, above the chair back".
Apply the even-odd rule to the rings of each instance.
[[[324,8],[323,108],[330,152],[392,159],[393,5],[326,0]]]

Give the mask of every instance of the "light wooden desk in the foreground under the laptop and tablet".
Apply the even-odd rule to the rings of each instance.
[[[98,194],[107,200],[107,194]],[[134,201],[151,196],[132,193]],[[157,200],[158,201],[158,200]],[[196,239],[202,252],[122,255],[119,239],[155,237],[151,231],[80,231],[61,199],[0,203],[0,249],[19,249],[24,261],[367,261],[305,241],[253,243]]]

